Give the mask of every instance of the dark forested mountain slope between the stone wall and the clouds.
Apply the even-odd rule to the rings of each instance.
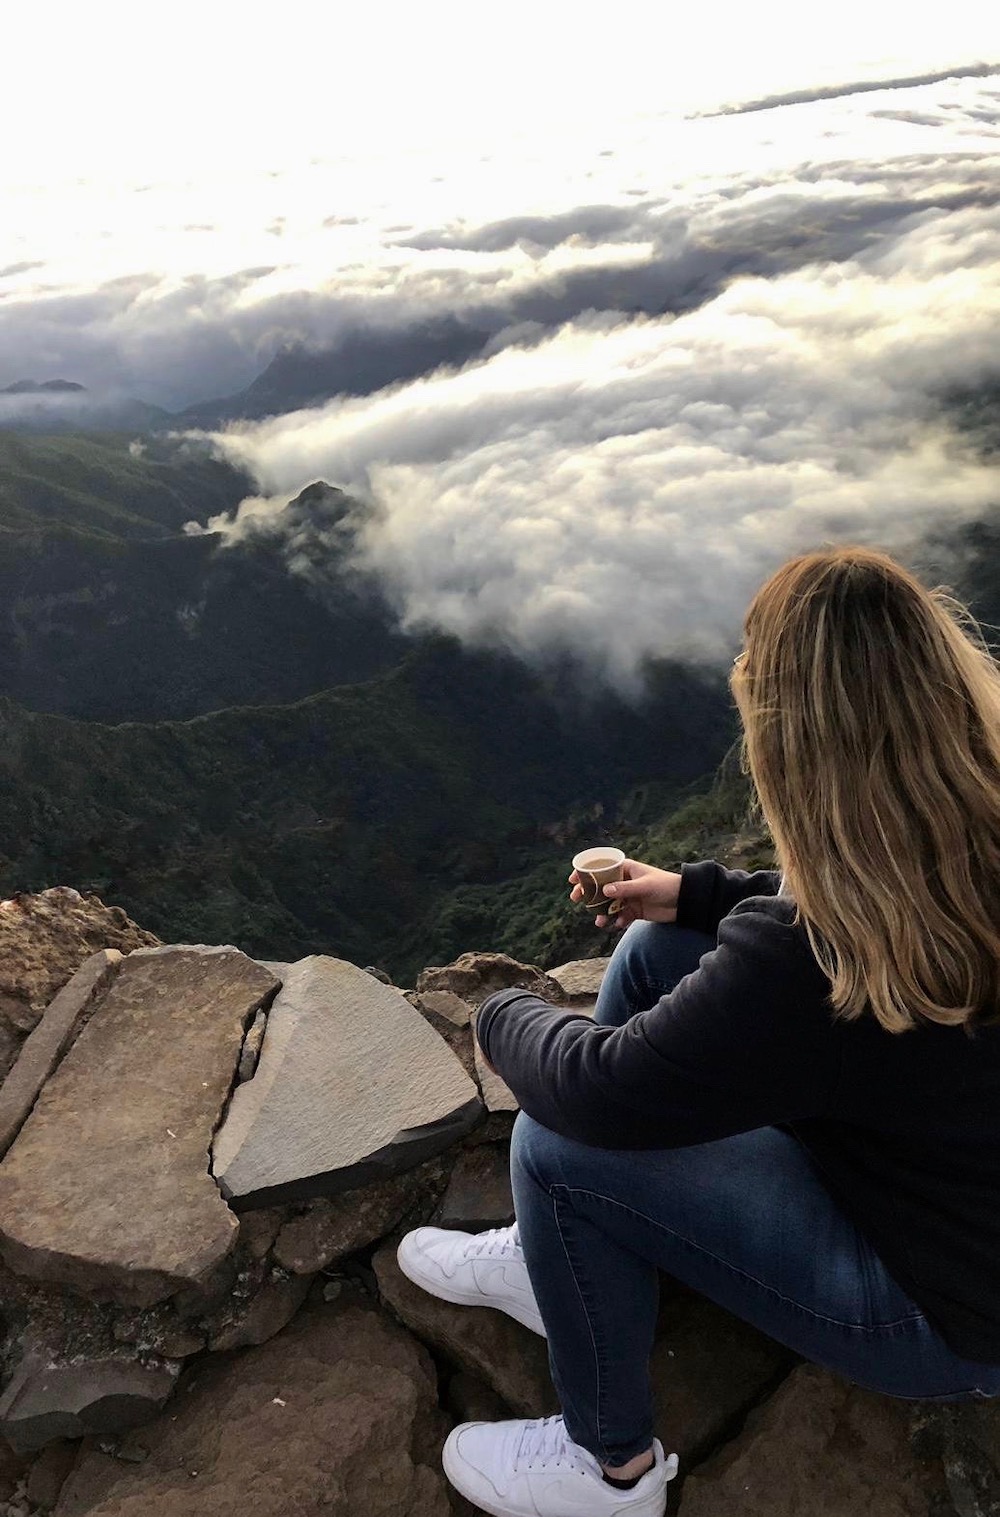
[[[0,711],[5,895],[68,883],[173,941],[402,977],[451,892],[548,860],[564,894],[574,839],[616,796],[649,774],[677,793],[733,736],[719,677],[665,666],[642,713],[560,705],[516,660],[448,639],[291,705],[117,727]]]

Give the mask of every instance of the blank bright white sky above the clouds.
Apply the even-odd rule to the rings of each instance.
[[[1000,56],[992,0],[35,0],[3,21],[0,185],[197,179],[607,129],[634,111]],[[17,152],[11,152],[11,143]]]

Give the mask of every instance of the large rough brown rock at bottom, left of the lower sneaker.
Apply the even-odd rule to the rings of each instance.
[[[143,1465],[88,1447],[56,1517],[448,1517],[436,1403],[425,1350],[344,1292],[197,1365]]]

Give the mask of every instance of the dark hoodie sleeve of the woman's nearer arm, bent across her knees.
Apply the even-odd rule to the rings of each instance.
[[[842,1039],[809,944],[757,901],[701,966],[624,1027],[525,991],[481,1007],[476,1036],[522,1110],[599,1148],[680,1148],[819,1117]]]

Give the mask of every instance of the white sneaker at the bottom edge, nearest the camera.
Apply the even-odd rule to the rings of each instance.
[[[442,1452],[445,1475],[492,1517],[663,1517],[677,1455],[653,1443],[654,1464],[630,1491],[615,1490],[601,1465],[572,1443],[561,1417],[463,1423]]]

